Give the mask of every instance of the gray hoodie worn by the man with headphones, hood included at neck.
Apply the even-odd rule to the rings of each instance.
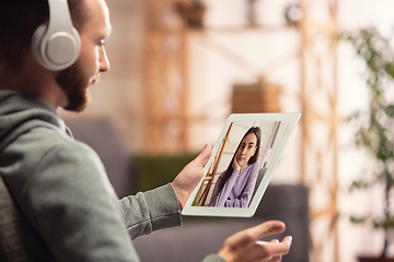
[[[40,97],[0,91],[0,174],[57,261],[138,261],[131,239],[182,224],[171,184],[119,201]]]

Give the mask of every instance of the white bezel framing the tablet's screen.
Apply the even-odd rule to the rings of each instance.
[[[278,114],[232,114],[227,119],[222,131],[212,148],[212,155],[209,158],[208,163],[204,168],[204,177],[195,187],[193,192],[190,193],[187,202],[182,211],[182,215],[185,216],[220,216],[220,217],[252,217],[258,204],[264,195],[264,192],[269,183],[269,180],[280,160],[280,157],[283,153],[283,150],[296,129],[296,124],[300,119],[301,114],[299,112],[278,112]],[[204,181],[205,176],[208,172],[208,168],[213,162],[215,155],[217,154],[220,144],[229,130],[229,127],[232,122],[253,122],[253,121],[262,121],[262,122],[275,122],[275,121],[283,121],[288,122],[288,127],[283,132],[283,135],[279,142],[277,150],[274,153],[274,156],[267,167],[267,170],[258,184],[257,191],[252,199],[248,207],[217,207],[217,206],[193,206],[193,201],[198,193],[198,190]]]

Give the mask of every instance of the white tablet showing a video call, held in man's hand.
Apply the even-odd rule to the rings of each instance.
[[[182,214],[252,217],[301,114],[233,114]]]

